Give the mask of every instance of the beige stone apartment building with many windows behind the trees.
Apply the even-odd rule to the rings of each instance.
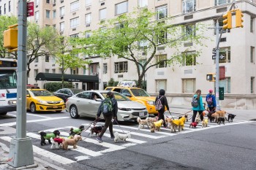
[[[158,12],[156,20],[172,16],[172,24],[191,27],[203,23],[214,27],[217,20],[222,26],[222,15],[230,9],[230,3],[231,0],[34,0],[34,18],[30,20],[40,26],[53,26],[65,36],[88,37],[90,33],[84,35],[83,31],[99,28],[101,20],[144,7]],[[244,13],[244,28],[224,31],[219,43],[222,55],[219,66],[225,67],[225,80],[219,81],[219,86],[225,89],[225,100],[220,101],[220,104],[222,107],[255,109],[256,0],[236,1],[236,7]],[[214,82],[206,80],[206,74],[216,72],[215,61],[212,59],[212,49],[216,46],[214,29],[208,28],[205,36],[209,38],[204,42],[206,47],[188,42],[179,49],[186,53],[201,50],[200,57],[193,58],[192,61],[185,58],[181,65],[162,64],[149,69],[145,76],[148,93],[157,95],[159,89],[163,88],[170,104],[189,106],[195,90],[201,89],[205,96],[208,89],[214,89]],[[187,47],[194,50],[187,51]],[[154,62],[169,58],[175,52],[174,49],[159,48]],[[99,76],[99,89],[105,88],[111,77],[116,81],[138,79],[135,64],[130,61],[115,56],[109,59],[81,57],[89,57],[93,63],[87,66],[88,69],[70,69],[66,74],[96,74]],[[45,83],[35,82],[34,78],[39,72],[60,73],[61,70],[56,66],[54,57],[48,56],[38,58],[31,64],[30,84],[42,86]],[[88,90],[88,86],[81,82],[75,82],[75,86]]]

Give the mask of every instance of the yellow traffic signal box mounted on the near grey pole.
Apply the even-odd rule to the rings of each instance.
[[[17,50],[18,48],[18,24],[9,26],[9,29],[4,31],[4,48],[8,50]]]

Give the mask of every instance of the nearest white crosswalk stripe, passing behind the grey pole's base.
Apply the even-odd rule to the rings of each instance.
[[[2,136],[1,139],[7,141],[7,142],[10,142],[12,138],[10,138],[9,136]],[[49,152],[47,150],[43,150],[39,147],[36,147],[33,145],[33,152],[37,153],[38,155],[42,155],[46,158],[50,158],[52,159],[53,161],[56,161],[58,163],[62,163],[62,164],[69,164],[69,163],[75,163],[75,161],[72,161],[68,158],[64,158],[60,155],[56,155],[54,154],[53,152]]]

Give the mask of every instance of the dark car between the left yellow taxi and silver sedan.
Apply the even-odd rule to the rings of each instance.
[[[84,90],[78,89],[78,88],[61,88],[59,90],[56,90],[53,94],[59,98],[62,98],[62,100],[66,103],[67,98],[74,96],[77,93],[80,93]]]

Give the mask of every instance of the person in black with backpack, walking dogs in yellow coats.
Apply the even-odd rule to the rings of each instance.
[[[165,97],[165,90],[161,89],[159,90],[159,95],[156,97],[156,100],[154,101],[155,104],[157,104],[157,101],[161,101],[162,107],[160,109],[158,109],[158,120],[164,120],[164,126],[165,128],[167,127],[165,124],[165,107],[167,108],[167,110],[169,110],[169,106],[167,103],[167,98]]]

